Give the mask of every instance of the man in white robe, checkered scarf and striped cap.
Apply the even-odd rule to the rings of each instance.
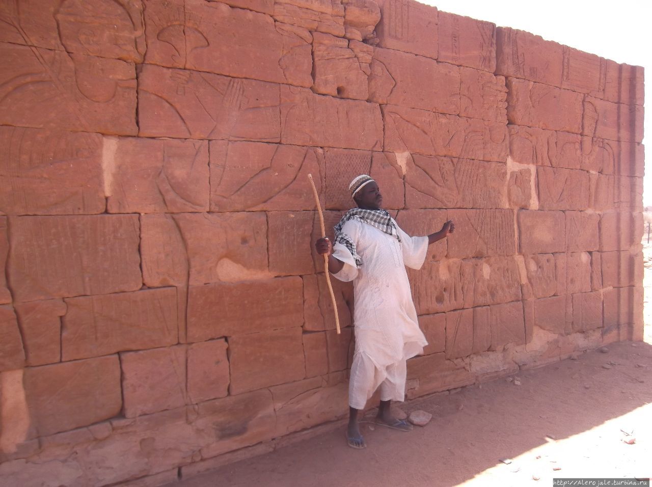
[[[380,387],[376,423],[409,431],[412,425],[391,413],[391,401],[405,396],[406,361],[428,344],[412,302],[406,266],[420,269],[429,244],[444,239],[455,226],[451,221],[427,237],[410,237],[381,209],[383,197],[372,177],[351,181],[357,208],[335,226],[335,246],[319,239],[319,254],[328,254],[329,270],[342,281],[353,281],[355,296],[355,354],[349,379],[348,445],[366,447],[358,413]]]

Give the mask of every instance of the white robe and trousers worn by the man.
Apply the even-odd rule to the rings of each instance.
[[[392,220],[396,225],[396,222]],[[349,379],[349,406],[364,409],[376,389],[381,400],[402,401],[406,360],[428,344],[417,322],[406,266],[421,269],[428,237],[410,237],[396,225],[396,237],[359,220],[349,220],[342,231],[351,237],[363,259],[358,269],[346,246],[334,245],[334,258],[344,267],[333,276],[353,281],[355,354]]]

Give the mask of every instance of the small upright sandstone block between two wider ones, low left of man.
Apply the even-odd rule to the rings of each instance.
[[[188,345],[186,380],[192,403],[222,398],[229,392],[229,360],[225,340],[210,340]]]

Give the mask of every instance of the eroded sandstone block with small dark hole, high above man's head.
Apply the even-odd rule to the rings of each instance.
[[[367,55],[371,49],[368,47]],[[360,53],[364,55],[364,52]],[[368,98],[367,76],[370,66],[361,63],[356,53],[349,48],[348,40],[316,32],[312,35],[312,55],[312,89],[316,93],[354,100]]]

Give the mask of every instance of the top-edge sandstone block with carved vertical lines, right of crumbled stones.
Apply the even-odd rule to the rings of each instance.
[[[437,59],[437,8],[415,0],[378,0],[381,48]]]

